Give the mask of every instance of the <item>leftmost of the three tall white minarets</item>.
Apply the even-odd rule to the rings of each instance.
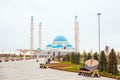
[[[30,50],[34,49],[34,22],[33,22],[33,16],[31,16],[31,22],[30,22]]]

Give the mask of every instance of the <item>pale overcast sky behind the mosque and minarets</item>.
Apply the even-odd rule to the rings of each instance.
[[[34,49],[42,22],[42,49],[63,35],[74,46],[74,17],[78,16],[80,50],[98,50],[98,16],[101,15],[101,49],[120,50],[120,0],[0,0],[0,51],[30,48],[30,18],[34,16]]]

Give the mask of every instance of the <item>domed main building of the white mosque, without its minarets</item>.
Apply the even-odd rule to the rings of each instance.
[[[74,52],[73,46],[62,35],[56,36],[53,42],[46,46],[46,50],[46,53],[51,56],[66,55]]]

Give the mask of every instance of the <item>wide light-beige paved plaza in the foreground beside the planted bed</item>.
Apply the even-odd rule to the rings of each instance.
[[[41,62],[42,60],[40,59]],[[106,77],[83,77],[78,73],[49,68],[40,69],[39,63],[35,59],[2,62],[0,63],[0,80],[113,80]]]

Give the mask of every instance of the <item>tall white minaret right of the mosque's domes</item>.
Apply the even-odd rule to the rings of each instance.
[[[75,16],[75,53],[79,52],[79,22]]]

